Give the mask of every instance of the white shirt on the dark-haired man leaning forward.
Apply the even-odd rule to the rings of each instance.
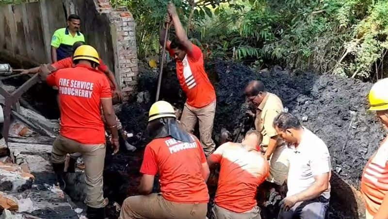
[[[292,196],[306,190],[314,184],[314,176],[331,171],[330,154],[321,138],[303,127],[300,144],[295,148],[290,145],[290,169],[288,172],[287,196]],[[329,187],[322,193],[330,198]]]

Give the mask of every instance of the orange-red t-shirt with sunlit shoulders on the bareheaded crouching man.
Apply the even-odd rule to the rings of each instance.
[[[267,178],[269,164],[260,152],[227,142],[209,158],[220,164],[214,202],[229,211],[242,213],[257,205],[257,187]]]

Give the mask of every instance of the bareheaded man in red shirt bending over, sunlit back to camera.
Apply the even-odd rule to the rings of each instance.
[[[220,164],[212,219],[261,219],[257,187],[269,174],[269,163],[256,147],[262,135],[248,131],[242,143],[227,142],[208,158],[210,167]]]

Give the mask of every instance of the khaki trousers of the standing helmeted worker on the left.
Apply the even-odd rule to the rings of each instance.
[[[102,191],[102,173],[105,161],[105,144],[86,145],[59,135],[51,151],[53,163],[64,163],[67,153],[80,152],[85,163],[86,205],[105,207]]]

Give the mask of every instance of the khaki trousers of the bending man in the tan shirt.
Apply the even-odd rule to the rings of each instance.
[[[286,143],[276,146],[270,160],[270,175],[266,179],[268,182],[283,185],[287,180],[290,167],[289,153],[290,150]]]

